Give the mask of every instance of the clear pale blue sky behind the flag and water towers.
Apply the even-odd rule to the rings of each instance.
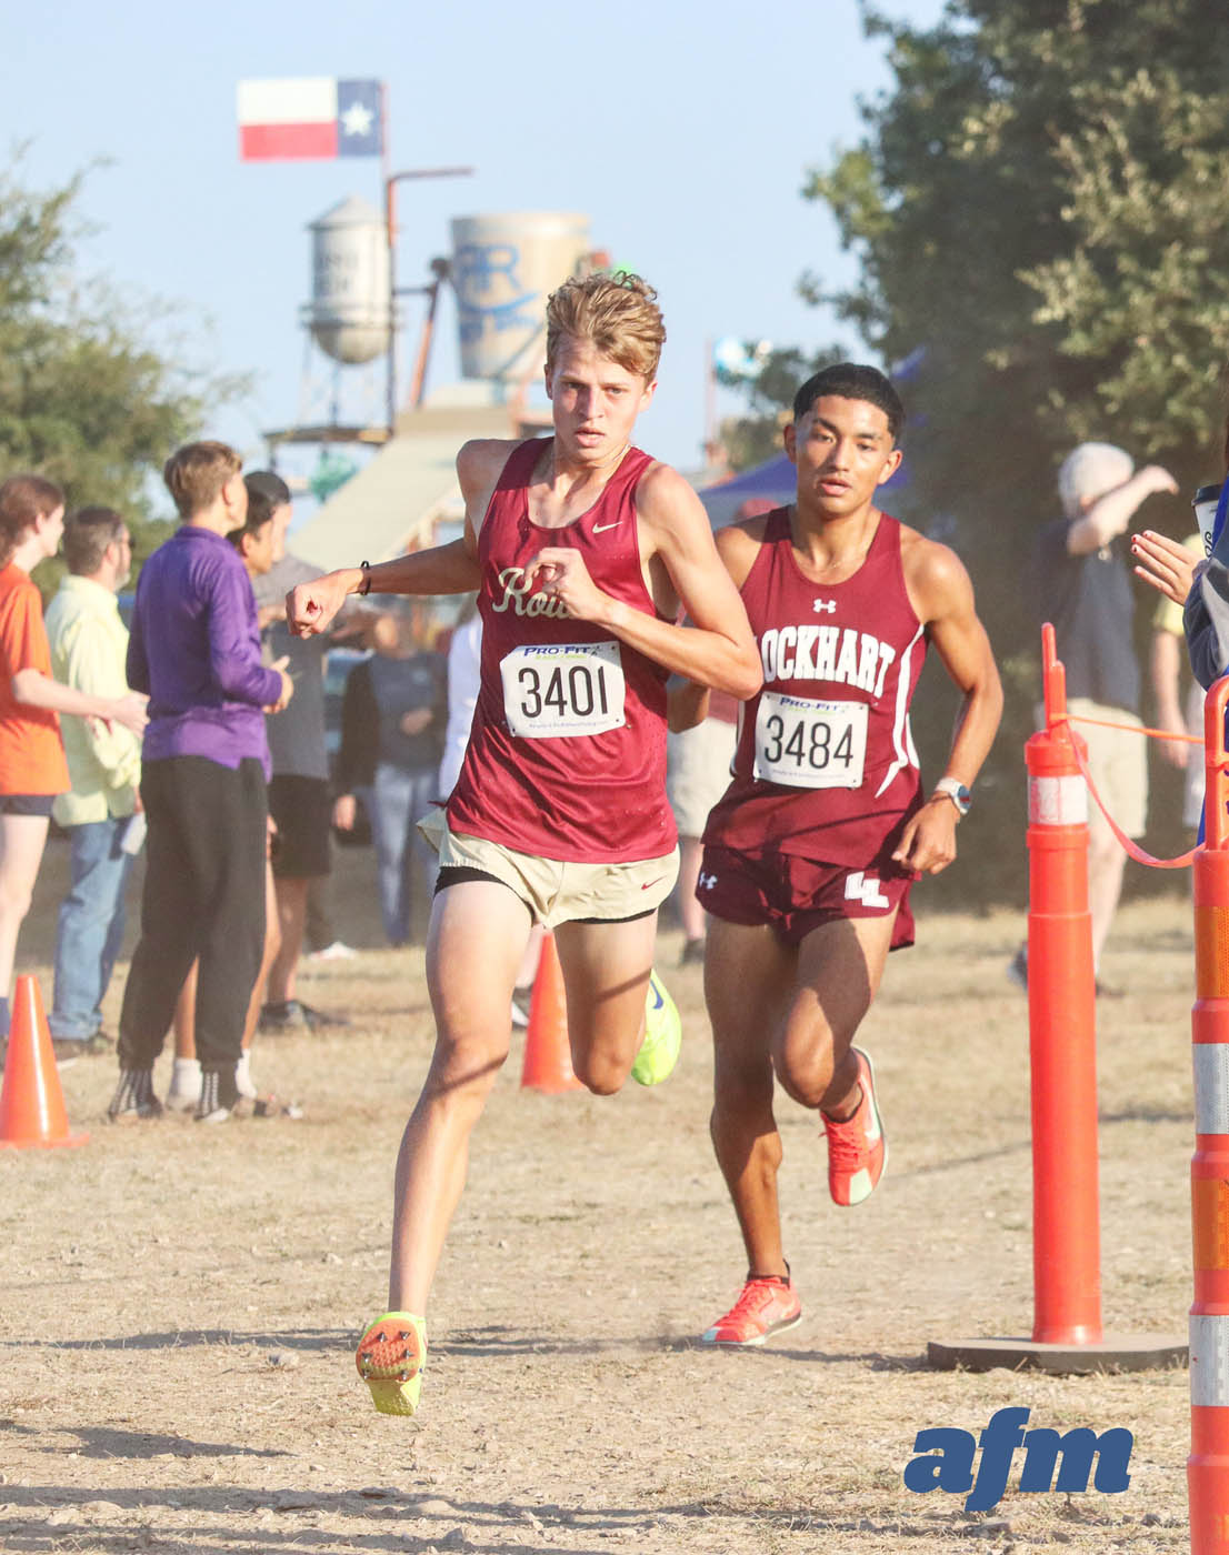
[[[882,0],[927,25],[941,0]],[[241,163],[235,89],[268,76],[380,78],[394,171],[473,166],[403,183],[398,281],[450,249],[453,216],[580,211],[594,247],[660,292],[667,344],[638,442],[683,470],[702,462],[708,344],[725,336],[870,353],[798,278],[854,280],[835,225],[801,199],[807,169],[857,142],[857,103],[890,86],[857,0],[756,8],[714,0],[50,0],[5,16],[0,117],[19,177],[51,188],[90,169],[82,272],[104,275],[184,362],[252,373],[210,435],[264,462],[261,432],[320,420],[333,369],[310,350],[308,222],[348,194],[381,204],[376,159]],[[19,67],[19,68],[17,68]],[[159,309],[157,303],[165,305]],[[420,319],[408,299],[401,359]],[[443,297],[429,384],[459,376]],[[342,379],[345,418],[383,417],[383,362]],[[722,393],[717,412],[737,401]],[[306,473],[317,449],[283,459]]]

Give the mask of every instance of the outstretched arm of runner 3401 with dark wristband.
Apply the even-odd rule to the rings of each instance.
[[[470,442],[457,454],[457,479],[465,498],[465,533],[446,546],[412,550],[373,568],[339,568],[286,596],[286,624],[300,638],[324,631],[347,596],[369,594],[468,594],[482,582],[478,566],[478,529],[499,470],[515,443],[485,439]],[[492,473],[493,471],[493,473]],[[476,515],[476,516],[474,516]],[[364,589],[364,580],[370,585]]]

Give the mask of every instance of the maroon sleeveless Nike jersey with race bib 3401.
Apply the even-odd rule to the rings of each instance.
[[[574,546],[602,592],[655,614],[635,501],[653,460],[629,449],[588,513],[543,529],[529,518],[543,446],[512,451],[478,535],[482,683],[448,824],[563,863],[660,858],[677,841],[666,802],[666,670],[524,586],[540,550]]]

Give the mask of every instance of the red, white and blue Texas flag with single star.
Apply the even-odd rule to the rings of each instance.
[[[302,76],[240,81],[240,160],[378,157],[378,81]]]

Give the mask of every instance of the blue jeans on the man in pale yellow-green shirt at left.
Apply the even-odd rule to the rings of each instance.
[[[47,1026],[53,1037],[92,1037],[103,1023],[103,994],[124,938],[124,885],[132,855],[128,818],[70,826],[72,885],[59,908],[56,992]]]

